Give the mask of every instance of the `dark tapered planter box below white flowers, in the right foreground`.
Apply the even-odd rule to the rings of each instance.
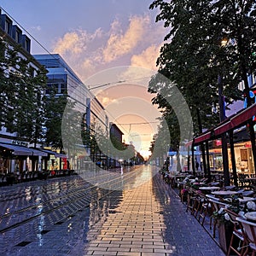
[[[230,239],[234,230],[233,224],[218,224],[218,241],[225,253],[230,247]]]

